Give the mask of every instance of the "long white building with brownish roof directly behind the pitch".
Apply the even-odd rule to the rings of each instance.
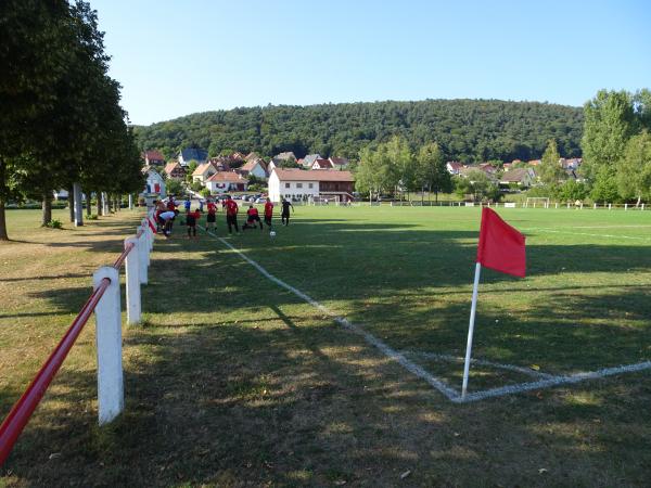
[[[340,202],[353,200],[355,178],[350,171],[305,171],[299,168],[276,168],[269,176],[269,200],[309,201],[334,196]]]

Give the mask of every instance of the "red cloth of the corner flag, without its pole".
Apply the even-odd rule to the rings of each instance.
[[[524,278],[524,235],[490,208],[482,210],[477,262],[486,268]]]

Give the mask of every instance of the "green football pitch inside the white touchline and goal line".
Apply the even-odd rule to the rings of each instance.
[[[500,214],[527,237],[527,278],[483,270],[464,399],[478,208],[297,207],[277,239],[230,242],[452,401],[650,369],[651,215]]]

